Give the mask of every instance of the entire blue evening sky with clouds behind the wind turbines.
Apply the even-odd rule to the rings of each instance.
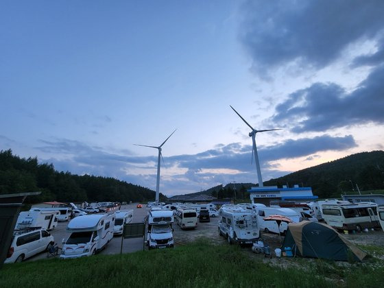
[[[384,149],[384,1],[0,3],[0,150],[160,193]]]

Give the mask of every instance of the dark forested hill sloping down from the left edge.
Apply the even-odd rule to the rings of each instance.
[[[0,151],[0,194],[42,191],[30,196],[29,203],[154,201],[155,191],[117,180],[96,176],[77,176],[58,172],[52,164],[38,164],[37,158],[20,158],[12,151]],[[164,196],[160,193],[160,198]]]

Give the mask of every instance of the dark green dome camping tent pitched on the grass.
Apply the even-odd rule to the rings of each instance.
[[[348,261],[348,253],[360,261],[367,255],[331,226],[312,221],[288,224],[282,250],[286,247],[296,255],[341,261]]]

